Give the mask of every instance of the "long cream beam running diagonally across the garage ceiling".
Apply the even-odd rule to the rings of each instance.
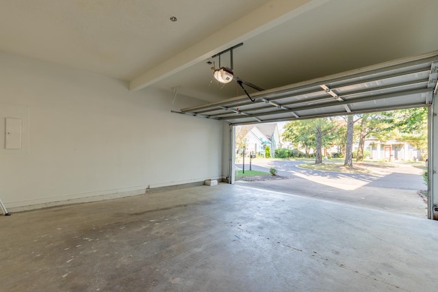
[[[272,0],[129,82],[136,91],[272,29],[330,0]]]

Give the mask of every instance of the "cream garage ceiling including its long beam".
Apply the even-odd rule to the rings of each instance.
[[[211,61],[218,66],[218,58],[211,56],[240,42],[244,45],[234,51],[235,75],[267,90],[263,94],[438,49],[435,0],[0,3],[1,51],[120,79],[129,90],[154,87],[168,92],[169,98],[177,92],[177,96],[191,96],[201,100],[196,103],[205,104],[244,94],[235,82],[218,83],[212,65],[207,64]],[[170,21],[171,16],[177,21]],[[228,63],[229,56],[224,55],[222,66]],[[338,91],[354,91],[329,81],[325,84]],[[355,84],[355,90],[375,86]],[[316,98],[322,93],[312,94],[311,98]],[[284,102],[292,103],[294,98]],[[348,106],[360,111],[363,103]],[[339,111],[335,107],[328,107],[327,114]],[[341,105],[341,109],[346,107]],[[311,111],[301,109],[295,114],[311,116]],[[294,118],[290,115],[284,117]],[[270,116],[260,119],[269,120]],[[250,120],[255,118],[229,121]]]

